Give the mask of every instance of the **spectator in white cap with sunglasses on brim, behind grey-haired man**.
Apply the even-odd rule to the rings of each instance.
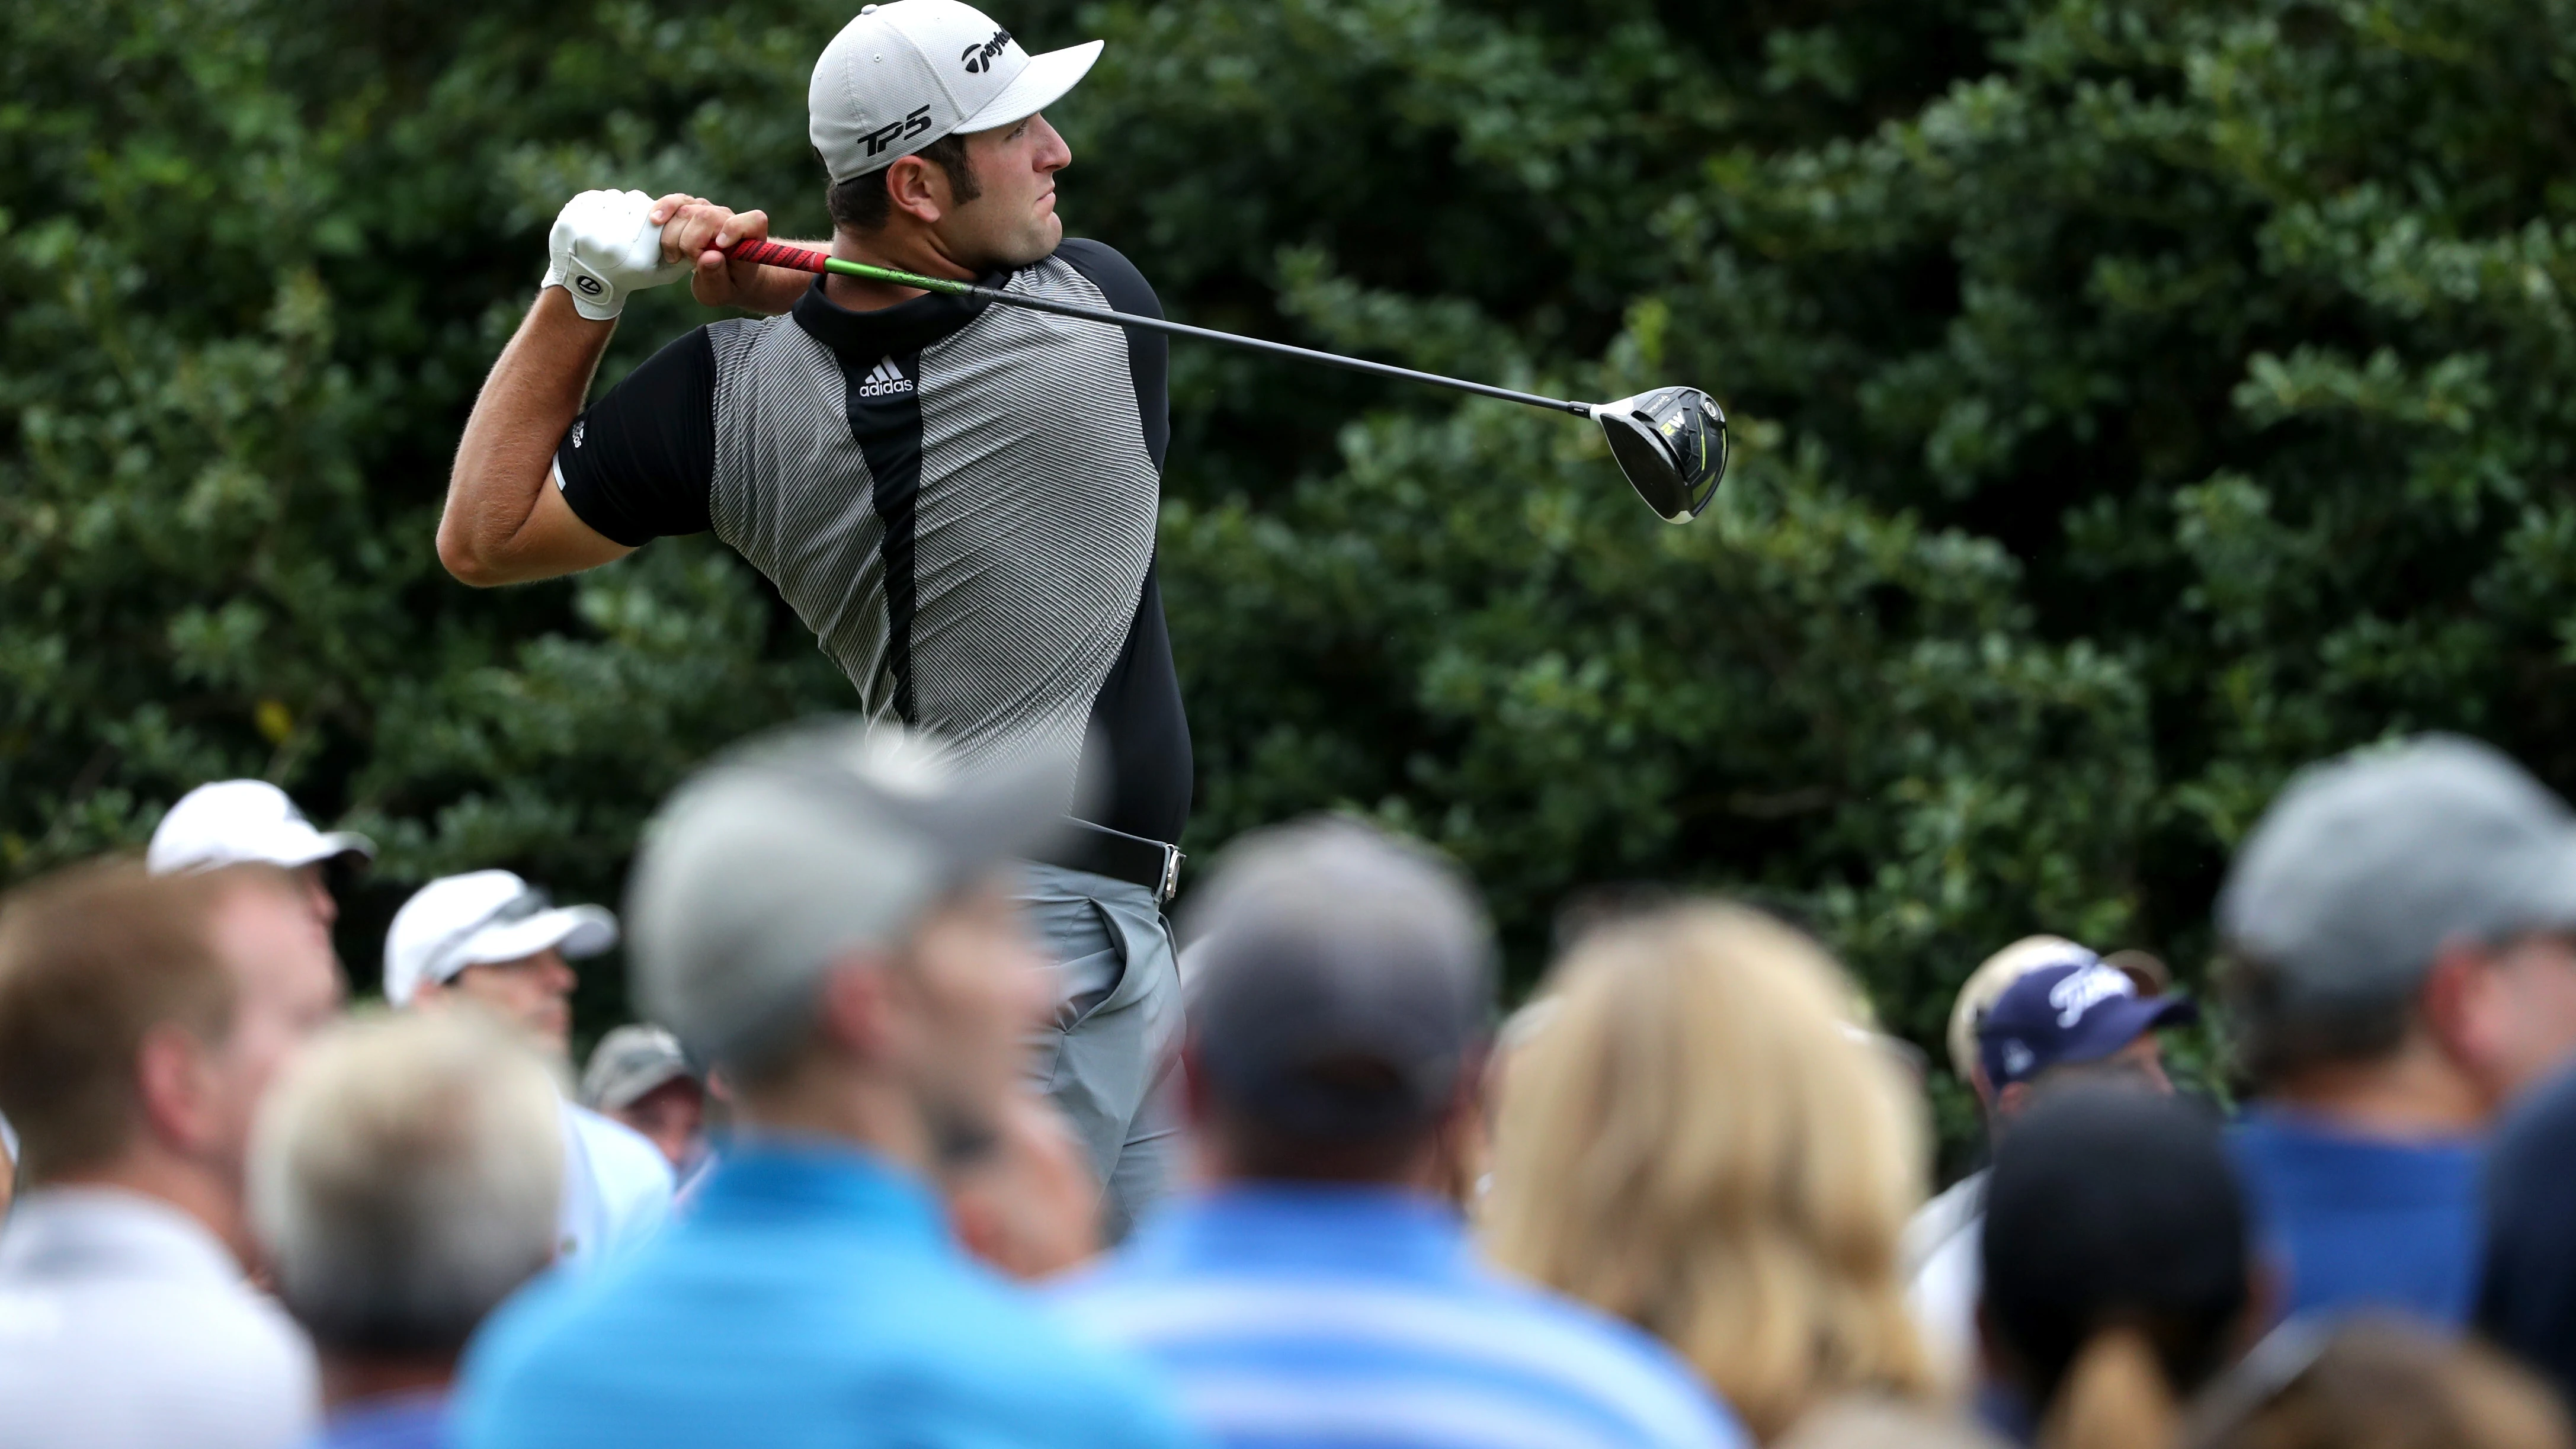
[[[618,942],[603,906],[556,906],[507,870],[422,885],[384,937],[384,999],[394,1006],[466,1001],[523,1032],[551,1063],[572,1055],[572,960]],[[556,1253],[587,1261],[644,1241],[670,1215],[677,1184],[662,1148],[574,1102],[564,1114],[564,1194]]]

